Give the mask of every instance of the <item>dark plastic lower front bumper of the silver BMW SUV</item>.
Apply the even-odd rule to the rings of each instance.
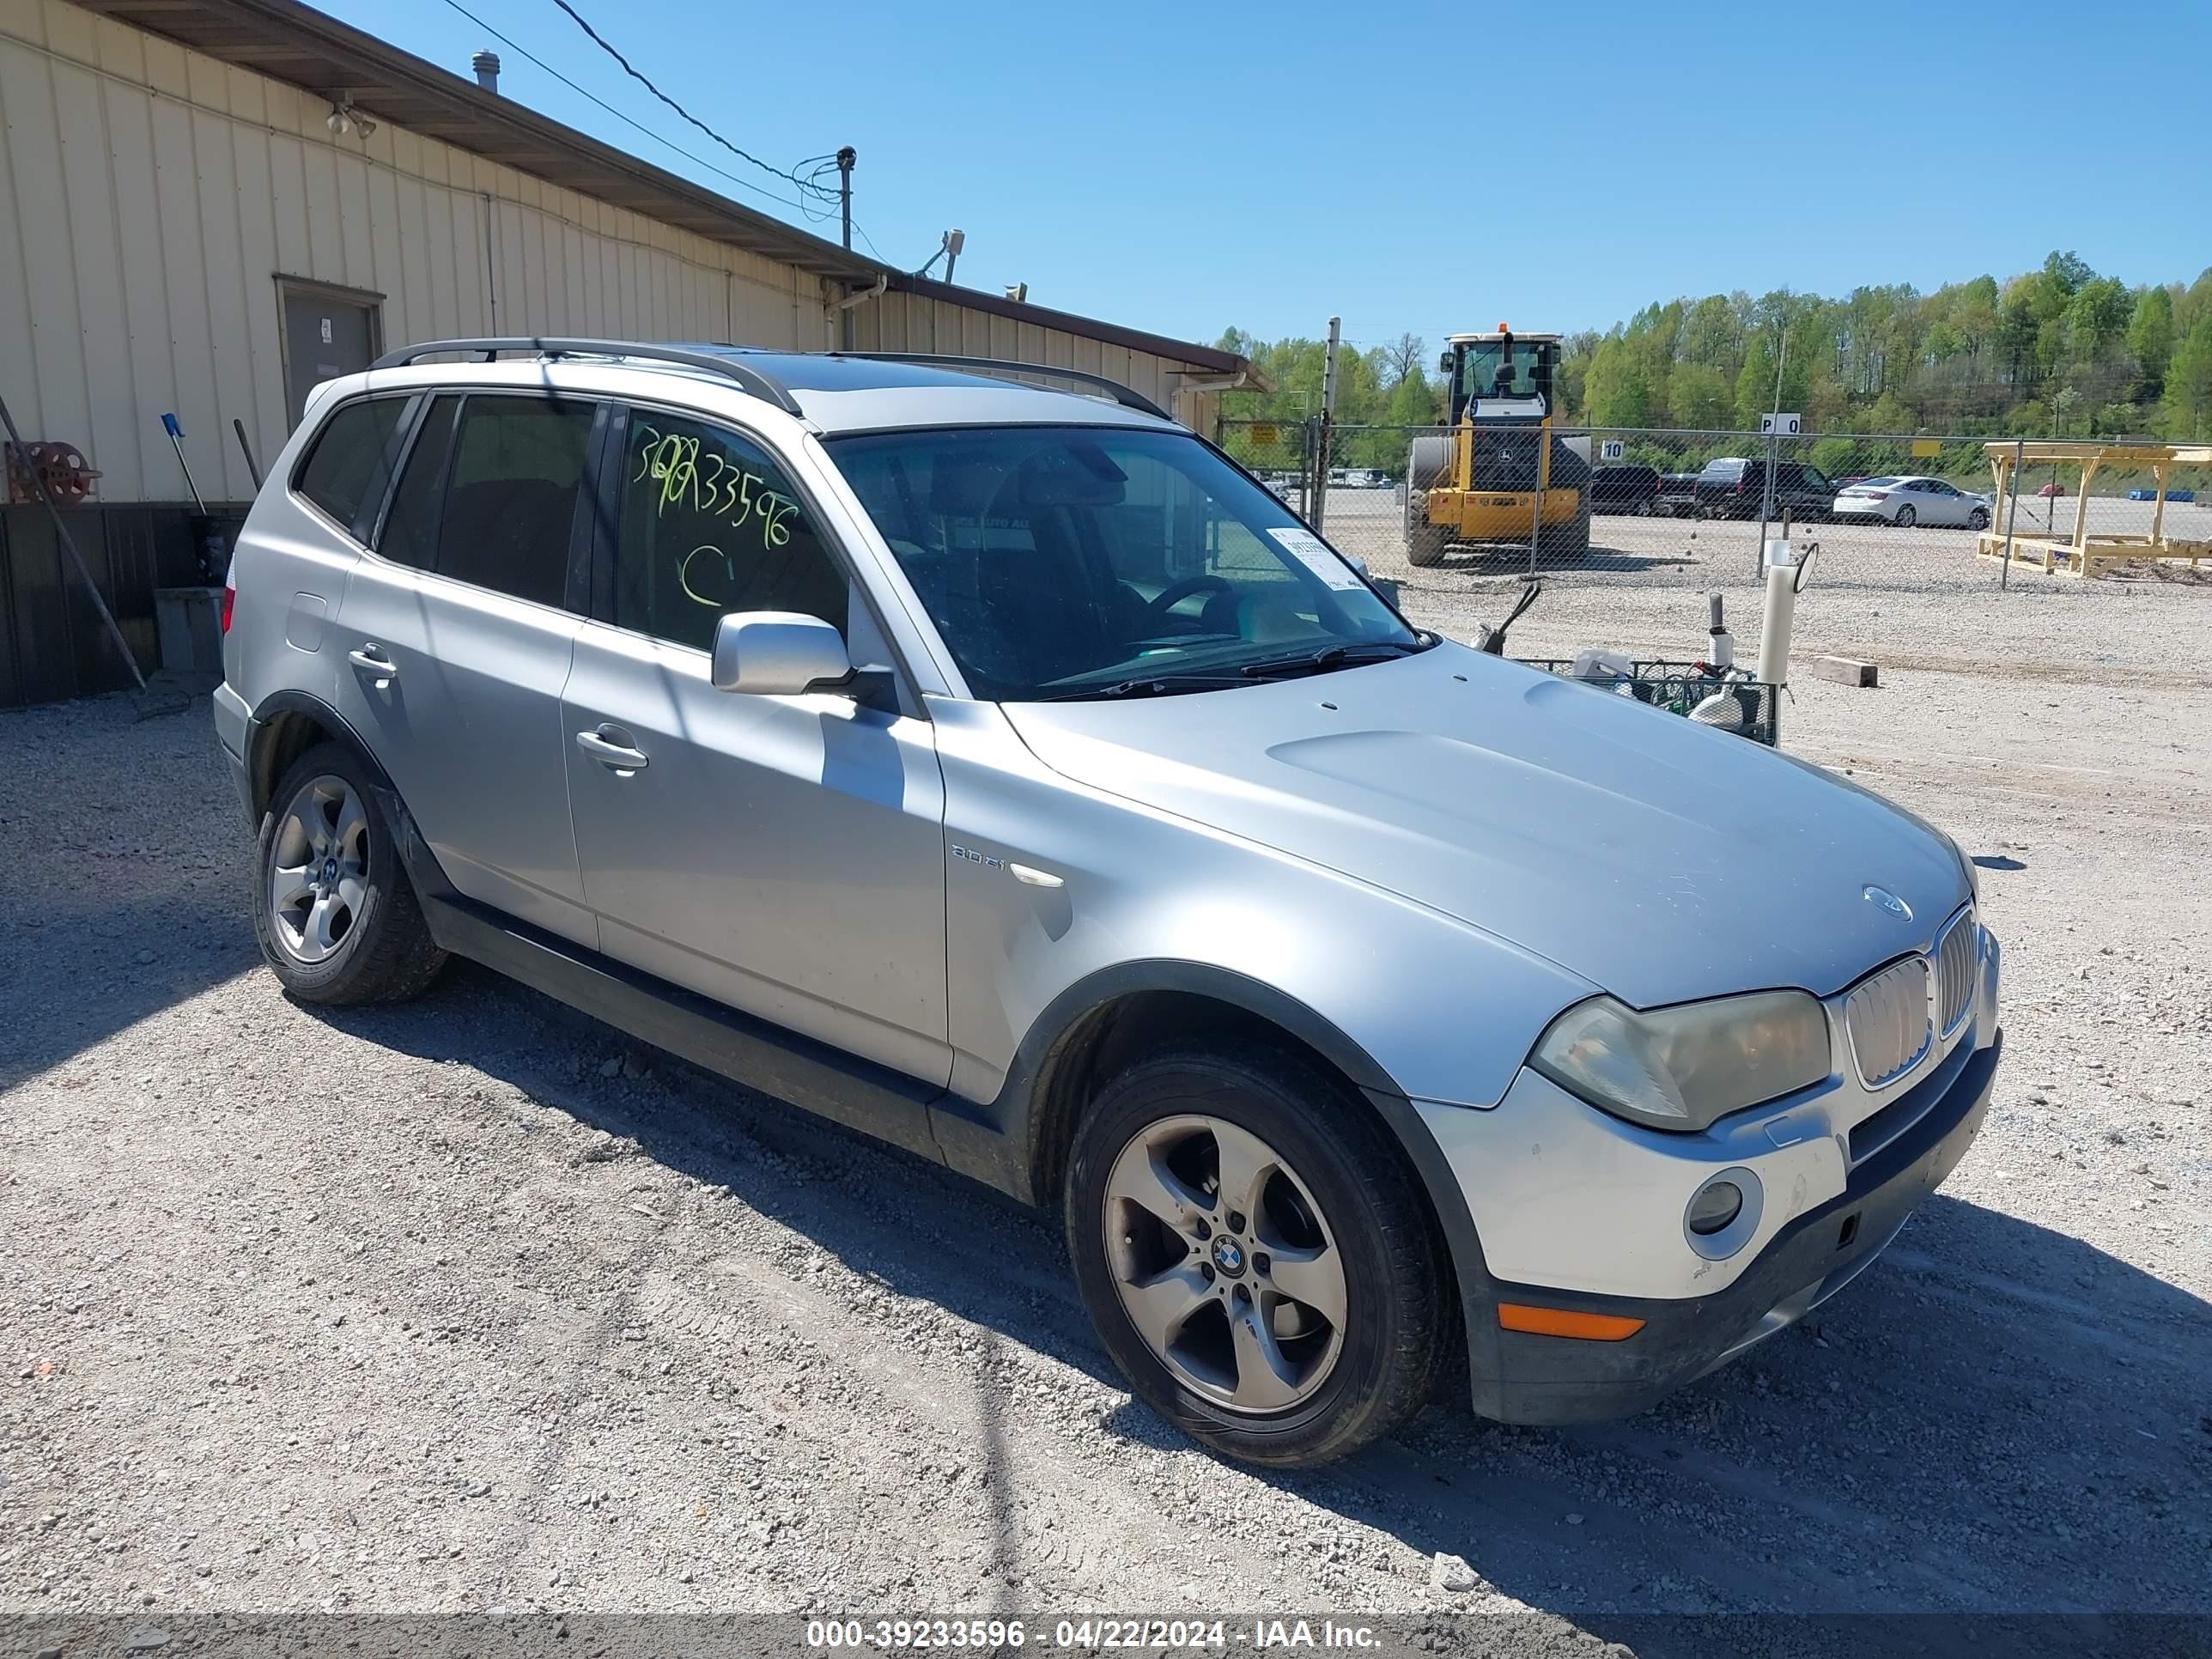
[[[1958,1166],[1989,1113],[2004,1035],[1953,1055],[1931,1084],[1940,1099],[1851,1170],[1843,1194],[1794,1217],[1734,1283],[1710,1296],[1590,1296],[1489,1281],[1480,1323],[1469,1296],[1475,1411],[1502,1422],[1586,1422],[1644,1411],[1796,1323],[1865,1272],[1922,1199]],[[1495,1305],[1537,1303],[1628,1314],[1644,1329],[1619,1343],[1498,1327]]]

